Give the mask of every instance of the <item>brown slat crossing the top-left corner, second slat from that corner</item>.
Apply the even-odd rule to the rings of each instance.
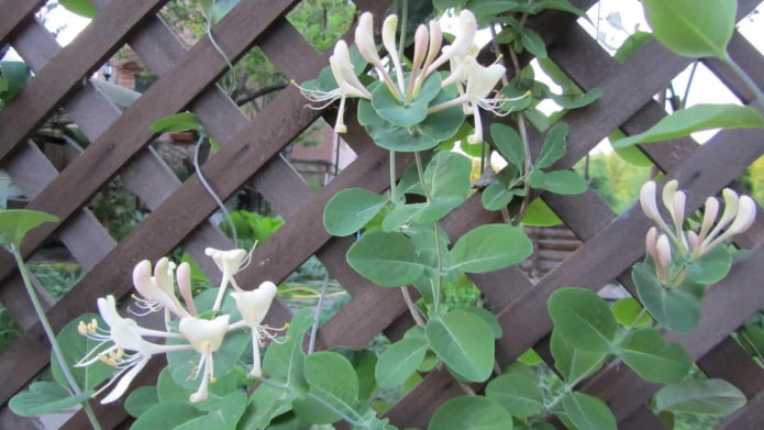
[[[167,0],[114,2],[101,11],[66,49],[29,82],[0,111],[0,161],[24,142],[34,130],[81,85],[82,78],[106,62],[144,16],[155,13]]]

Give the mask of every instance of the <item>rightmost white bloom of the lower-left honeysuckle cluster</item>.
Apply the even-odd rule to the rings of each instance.
[[[276,298],[278,289],[272,282],[265,282],[252,291],[234,291],[231,296],[236,300],[236,309],[242,315],[242,321],[232,324],[232,328],[245,326],[252,330],[252,377],[262,376],[259,349],[265,340],[275,340],[269,327],[263,326],[263,319],[268,313],[270,305]],[[275,330],[275,329],[270,329]]]

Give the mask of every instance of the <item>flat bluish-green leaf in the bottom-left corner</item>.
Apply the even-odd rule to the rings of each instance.
[[[8,403],[13,414],[22,417],[37,417],[46,414],[60,412],[90,399],[91,392],[71,396],[69,392],[56,383],[37,381],[30,389],[13,396]]]

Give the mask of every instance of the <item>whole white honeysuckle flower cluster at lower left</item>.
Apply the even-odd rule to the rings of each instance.
[[[221,251],[208,247],[206,254],[212,257],[222,272],[221,284],[212,306],[212,310],[215,311],[213,318],[202,318],[197,311],[191,296],[189,264],[181,263],[176,268],[175,264],[164,257],[153,269],[151,262],[145,260],[135,265],[133,284],[140,294],[134,296],[136,306],[140,308],[140,311],[134,313],[145,315],[164,309],[165,331],[146,329],[131,318],[122,318],[117,311],[113,296],[98,299],[98,310],[106,322],[106,328],[99,327],[95,319],[88,323],[80,321],[79,333],[98,344],[76,366],[84,367],[101,361],[118,370],[114,376],[96,393],[98,395],[115,383],[114,388],[101,400],[101,404],[109,404],[122,397],[130,383],[153,355],[187,350],[199,353],[199,361],[189,378],[197,379],[201,376],[199,387],[189,400],[191,403],[206,400],[209,395],[208,386],[214,381],[214,353],[223,345],[226,333],[244,328],[248,328],[253,337],[254,360],[251,375],[261,375],[259,348],[263,346],[264,341],[274,340],[274,334],[269,331],[273,329],[263,326],[263,320],[276,297],[276,285],[265,282],[254,290],[244,290],[239,287],[234,275],[243,268],[243,265],[246,265],[246,260],[251,255],[244,250]],[[220,315],[229,285],[234,289],[231,296],[242,316],[242,319],[235,322],[231,322],[230,315]],[[185,306],[178,300],[176,288]],[[174,318],[178,320],[177,331],[171,329],[175,327],[170,324]],[[146,340],[148,338],[174,341],[171,344],[160,344]]]

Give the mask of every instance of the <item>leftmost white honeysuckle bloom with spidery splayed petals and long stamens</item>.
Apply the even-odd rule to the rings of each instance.
[[[101,399],[102,405],[110,404],[122,397],[128,390],[130,383],[146,366],[152,355],[189,350],[191,348],[188,344],[160,345],[144,340],[144,337],[176,339],[182,337],[178,333],[144,329],[134,320],[120,317],[117,312],[114,296],[99,298],[98,310],[109,329],[98,327],[98,322],[95,319],[87,324],[80,321],[78,327],[79,333],[98,342],[98,344],[75,366],[85,367],[97,361],[102,361],[119,370],[107,384],[93,394],[93,397],[101,394],[117,382],[111,393]]]

